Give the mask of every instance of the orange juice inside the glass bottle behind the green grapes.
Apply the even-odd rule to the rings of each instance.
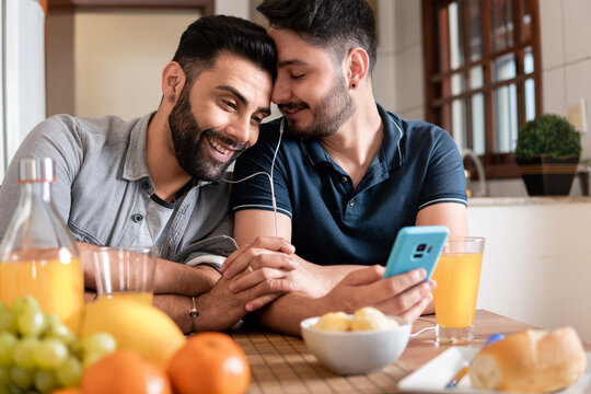
[[[44,313],[57,315],[74,333],[84,305],[80,258],[62,263],[38,259],[0,263],[0,300],[8,305],[21,296],[33,296]]]

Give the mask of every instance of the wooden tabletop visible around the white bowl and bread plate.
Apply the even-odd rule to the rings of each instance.
[[[413,333],[434,327],[434,315],[420,317],[413,324]],[[533,326],[485,311],[476,311],[475,341],[482,346],[496,333],[514,333]],[[396,382],[449,349],[438,345],[434,329],[414,338],[402,357],[384,370],[352,376],[334,374],[322,367],[310,354],[302,339],[260,331],[237,331],[232,337],[244,349],[252,369],[248,393],[392,393]],[[590,346],[586,346],[591,350]]]

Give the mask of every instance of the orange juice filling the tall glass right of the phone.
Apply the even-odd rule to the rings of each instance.
[[[432,276],[437,282],[433,290],[437,324],[447,328],[472,326],[482,265],[482,253],[441,254]]]

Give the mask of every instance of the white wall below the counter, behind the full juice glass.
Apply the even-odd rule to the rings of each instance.
[[[591,198],[474,199],[468,229],[486,236],[478,308],[591,343]]]

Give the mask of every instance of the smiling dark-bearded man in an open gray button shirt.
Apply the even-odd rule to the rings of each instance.
[[[96,245],[155,245],[154,304],[185,333],[227,328],[253,300],[290,291],[282,274],[290,266],[266,267],[271,276],[244,273],[253,286],[237,293],[217,270],[236,250],[222,176],[269,115],[275,62],[262,27],[231,16],[196,21],[164,67],[157,112],[129,121],[57,115],[28,134],[0,190],[0,236],[19,199],[19,160],[48,157],[54,202],[77,241],[86,287],[94,286],[89,257]],[[257,244],[293,253],[277,240]]]

